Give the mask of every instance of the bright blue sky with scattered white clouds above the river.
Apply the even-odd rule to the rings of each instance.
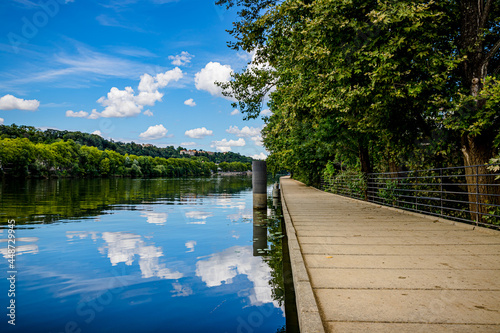
[[[0,1],[0,123],[265,158],[262,118],[214,85],[252,59],[214,3]]]

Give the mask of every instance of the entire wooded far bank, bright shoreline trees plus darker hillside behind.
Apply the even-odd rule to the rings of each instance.
[[[81,132],[1,125],[0,133],[0,172],[6,177],[193,177],[251,169],[252,159],[235,153],[181,158],[182,147],[115,143]]]

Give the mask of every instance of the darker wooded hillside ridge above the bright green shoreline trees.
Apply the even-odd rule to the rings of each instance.
[[[168,146],[165,148],[156,147],[153,145],[142,145],[135,142],[123,143],[115,142],[113,140],[106,140],[99,135],[82,133],[82,132],[70,132],[70,131],[59,131],[55,129],[47,129],[45,131],[39,130],[32,126],[18,126],[16,124],[0,125],[0,138],[26,138],[33,143],[54,143],[58,140],[73,140],[76,144],[82,146],[96,147],[99,150],[112,150],[121,155],[137,155],[137,156],[151,156],[151,157],[163,157],[163,158],[181,158],[185,157],[181,155],[180,151],[184,150],[183,147],[174,148],[174,146]],[[252,158],[240,155],[238,153],[227,152],[219,153],[215,152],[213,154],[208,154],[207,152],[199,151],[196,157],[206,157],[208,161],[214,163],[222,162],[242,162],[242,163],[252,163]]]

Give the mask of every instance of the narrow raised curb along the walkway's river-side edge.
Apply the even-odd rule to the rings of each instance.
[[[281,179],[280,179],[281,181]],[[281,186],[280,186],[281,188]],[[297,316],[301,333],[324,333],[325,328],[314,297],[309,275],[307,274],[304,258],[297,240],[295,227],[293,226],[286,205],[285,193],[281,188],[281,206],[285,220],[286,235],[288,238],[288,250],[290,253],[290,264],[292,267],[293,285],[295,288],[295,299],[297,303]]]

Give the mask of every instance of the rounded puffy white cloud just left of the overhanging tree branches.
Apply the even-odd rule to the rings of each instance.
[[[209,62],[205,68],[195,74],[194,82],[196,89],[206,90],[212,96],[223,97],[222,88],[215,82],[227,82],[231,79],[233,70],[229,65],[221,65],[218,62]]]

